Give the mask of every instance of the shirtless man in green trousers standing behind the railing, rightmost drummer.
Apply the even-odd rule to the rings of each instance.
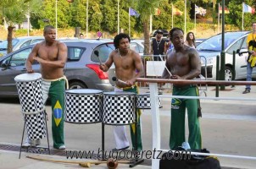
[[[201,63],[198,52],[184,45],[184,32],[179,28],[170,30],[170,41],[174,50],[167,53],[164,79],[194,79],[201,73]],[[173,95],[198,96],[195,85],[173,85]],[[170,149],[181,146],[185,139],[185,111],[187,108],[189,136],[188,143],[192,150],[202,147],[200,124],[198,119],[198,99],[178,99],[171,101]]]

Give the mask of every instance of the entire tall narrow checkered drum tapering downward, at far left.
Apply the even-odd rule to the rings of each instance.
[[[42,75],[37,73],[19,74],[14,80],[19,93],[28,137],[42,139],[47,134],[42,101]]]

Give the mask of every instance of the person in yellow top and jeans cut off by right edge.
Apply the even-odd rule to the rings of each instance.
[[[255,67],[256,59],[256,21],[252,24],[253,32],[248,35],[247,46],[249,57],[247,60],[247,81],[252,81],[253,68]],[[251,85],[246,85],[245,90],[242,94],[250,93]]]

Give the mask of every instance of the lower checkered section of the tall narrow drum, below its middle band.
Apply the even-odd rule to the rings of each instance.
[[[23,114],[25,118],[25,128],[30,139],[42,139],[46,136],[45,111],[37,114]]]

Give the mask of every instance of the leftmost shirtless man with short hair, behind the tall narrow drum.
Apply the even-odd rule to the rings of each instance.
[[[43,30],[45,41],[34,46],[26,61],[27,73],[33,73],[32,63],[37,61],[41,65],[42,97],[43,103],[50,96],[52,105],[52,132],[53,148],[64,150],[64,65],[67,61],[67,46],[56,41],[56,30],[52,25],[47,25]],[[30,145],[35,140],[27,139],[25,145]],[[36,140],[38,141],[38,140]],[[38,143],[36,143],[38,144]]]

